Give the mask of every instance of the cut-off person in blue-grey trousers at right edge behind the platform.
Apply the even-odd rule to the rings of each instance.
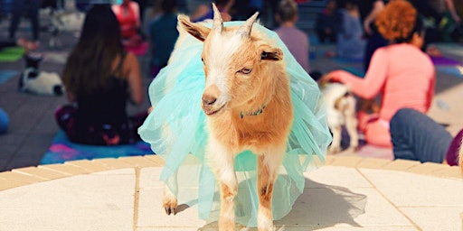
[[[452,137],[428,115],[402,108],[391,119],[394,159],[458,165],[463,129]]]

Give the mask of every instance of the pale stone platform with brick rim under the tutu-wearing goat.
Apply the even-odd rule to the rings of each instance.
[[[151,155],[2,172],[0,230],[217,230],[195,207],[165,215],[162,164]],[[329,156],[306,176],[277,230],[462,230],[458,167]]]

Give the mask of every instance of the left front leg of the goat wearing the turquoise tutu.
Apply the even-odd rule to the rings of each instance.
[[[207,155],[212,161],[215,177],[221,190],[220,231],[235,230],[234,198],[238,191],[238,180],[234,169],[234,154],[222,144],[210,141]]]

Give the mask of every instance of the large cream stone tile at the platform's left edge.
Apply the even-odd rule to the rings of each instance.
[[[0,193],[0,230],[132,230],[134,175],[80,175]]]

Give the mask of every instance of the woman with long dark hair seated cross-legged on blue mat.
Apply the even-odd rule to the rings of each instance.
[[[63,71],[72,105],[55,112],[71,142],[93,145],[136,143],[146,112],[129,116],[128,100],[143,102],[137,57],[124,50],[116,15],[109,5],[93,5],[79,42]]]

